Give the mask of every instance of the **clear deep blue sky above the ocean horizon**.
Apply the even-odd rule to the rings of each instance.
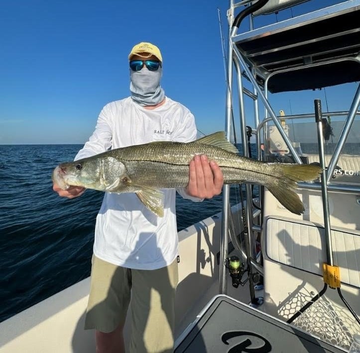
[[[84,143],[102,107],[129,95],[127,55],[140,41],[160,47],[165,94],[194,113],[198,129],[224,130],[217,9],[226,39],[228,5],[220,0],[3,1],[0,144]],[[285,10],[278,20],[290,15]],[[270,20],[274,17],[266,16],[265,22]],[[329,109],[348,109],[355,88],[327,88]],[[312,111],[314,97],[324,99],[323,91],[271,99],[275,112],[290,113],[291,106],[295,114]]]

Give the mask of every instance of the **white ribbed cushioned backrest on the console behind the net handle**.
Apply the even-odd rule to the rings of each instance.
[[[326,262],[324,228],[307,221],[269,217],[266,255],[272,261],[322,275]],[[334,264],[341,282],[360,287],[360,231],[332,229]]]

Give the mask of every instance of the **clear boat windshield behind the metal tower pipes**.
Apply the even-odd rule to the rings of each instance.
[[[319,163],[317,125],[314,115],[289,115],[278,118],[303,163]],[[327,165],[336,152],[346,118],[346,112],[324,113],[322,116]],[[264,150],[263,159],[267,162],[294,163],[294,159],[274,123],[267,122],[263,130],[263,144],[261,144]],[[360,113],[356,115],[340,153],[332,182],[360,184]]]

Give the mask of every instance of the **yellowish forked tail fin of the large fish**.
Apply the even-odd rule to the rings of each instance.
[[[265,186],[290,212],[302,214],[304,205],[295,192],[297,183],[318,178],[322,169],[319,166],[306,164],[279,164],[276,169],[277,177]]]

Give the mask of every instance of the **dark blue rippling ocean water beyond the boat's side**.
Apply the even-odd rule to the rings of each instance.
[[[0,321],[90,274],[95,219],[103,192],[66,199],[51,173],[82,145],[0,145]],[[254,146],[252,146],[254,150]],[[231,203],[239,202],[232,185]],[[201,203],[177,195],[178,230],[222,208],[222,196]]]

